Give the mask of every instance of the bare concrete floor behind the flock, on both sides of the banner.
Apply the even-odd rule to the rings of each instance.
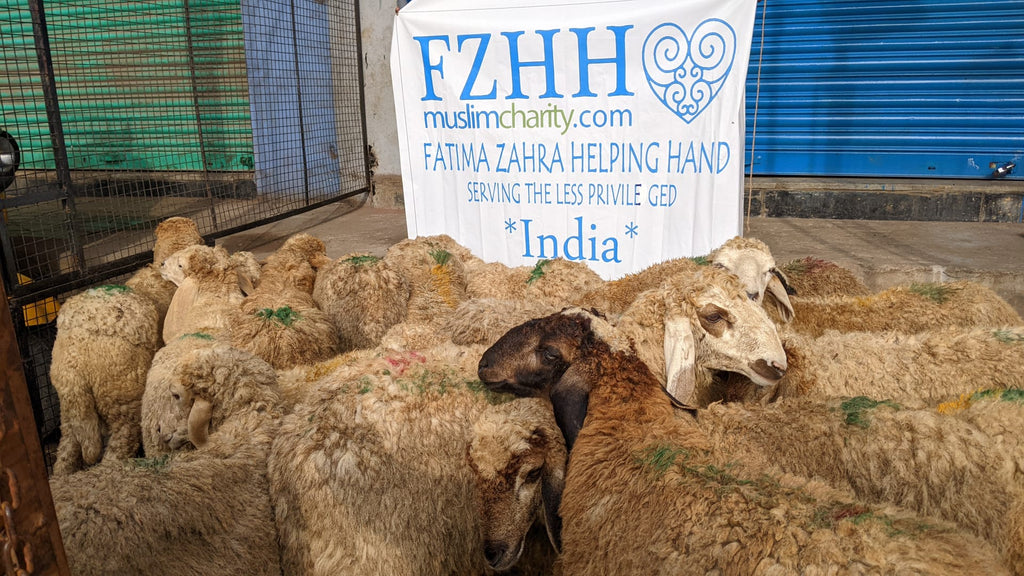
[[[380,256],[406,238],[406,213],[350,199],[224,237],[217,244],[262,258],[299,232],[323,240],[334,258],[353,252]],[[804,256],[831,260],[874,290],[911,282],[974,280],[1024,315],[1024,223],[752,217],[743,236],[768,244],[780,264]]]

